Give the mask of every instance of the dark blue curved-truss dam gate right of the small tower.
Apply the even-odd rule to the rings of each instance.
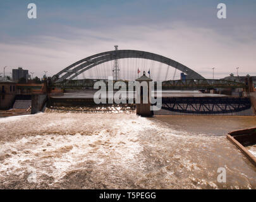
[[[162,97],[162,108],[156,115],[226,114],[253,115],[250,98],[234,97]]]

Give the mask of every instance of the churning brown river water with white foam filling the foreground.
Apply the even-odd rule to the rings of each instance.
[[[51,112],[0,122],[2,189],[256,187],[255,167],[224,136],[159,119]],[[217,182],[219,167],[226,183]]]

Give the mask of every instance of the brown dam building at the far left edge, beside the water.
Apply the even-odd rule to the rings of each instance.
[[[0,109],[9,109],[15,100],[16,83],[14,81],[0,81]]]

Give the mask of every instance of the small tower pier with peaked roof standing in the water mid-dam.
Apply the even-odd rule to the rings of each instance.
[[[140,82],[140,85],[137,87],[136,91],[136,113],[139,116],[143,117],[150,117],[152,116],[152,111],[150,110],[150,88],[149,88],[149,81],[152,81],[149,77],[145,76],[145,71],[143,71],[143,76],[140,78],[137,78],[138,82]],[[143,96],[144,95],[144,96]],[[143,103],[143,97],[147,97],[147,102]],[[138,103],[138,100],[140,102]]]

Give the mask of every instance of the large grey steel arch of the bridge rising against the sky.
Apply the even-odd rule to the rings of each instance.
[[[152,61],[161,62],[176,68],[187,76],[187,79],[205,79],[203,76],[193,71],[192,69],[186,67],[185,65],[176,62],[168,57],[164,57],[152,52],[145,52],[142,50],[111,50],[107,52],[101,52],[93,56],[85,57],[84,59],[77,61],[67,68],[59,71],[52,77],[54,83],[59,83],[64,80],[73,80],[79,74],[87,71],[88,69],[94,68],[99,64],[104,62],[113,61],[115,59],[125,59],[125,58],[140,58],[140,59],[150,59]]]

